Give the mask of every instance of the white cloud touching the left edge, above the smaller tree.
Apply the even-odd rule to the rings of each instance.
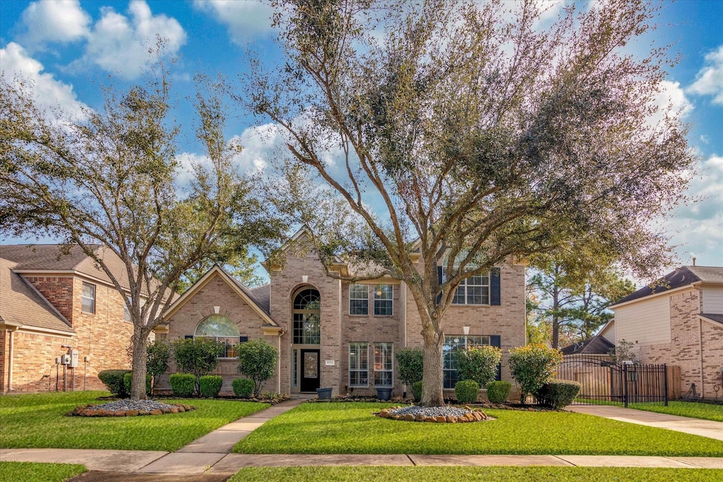
[[[2,77],[7,82],[28,82],[26,85],[32,89],[33,99],[39,108],[46,112],[60,108],[73,120],[84,116],[82,108],[85,105],[77,99],[73,86],[60,82],[53,74],[43,72],[43,64],[28,56],[17,43],[11,42],[0,49],[0,66]]]

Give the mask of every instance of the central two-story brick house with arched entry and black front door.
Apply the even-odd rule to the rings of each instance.
[[[375,395],[392,387],[401,395],[395,350],[422,346],[416,304],[406,285],[390,277],[356,284],[326,274],[301,229],[280,251],[262,263],[270,284],[249,289],[220,267],[213,267],[164,315],[158,337],[218,337],[228,343],[263,337],[279,350],[276,376],[264,390]],[[419,263],[419,254],[411,253]],[[329,267],[347,274],[350,267]],[[441,267],[439,269],[441,275]],[[468,280],[458,290],[444,320],[445,389],[456,382],[453,352],[465,345],[497,345],[503,350],[502,379],[510,380],[509,349],[524,345],[525,266],[504,264],[491,276]],[[235,353],[221,360],[223,390],[236,373]],[[172,371],[172,369],[171,369]],[[448,393],[451,395],[451,392]]]

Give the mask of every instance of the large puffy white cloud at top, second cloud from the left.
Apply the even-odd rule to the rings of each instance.
[[[80,64],[95,64],[124,79],[134,79],[152,60],[148,51],[157,37],[166,40],[167,55],[175,55],[186,43],[181,24],[166,15],[154,15],[143,0],[129,4],[129,17],[111,7],[102,7],[100,12],[100,20],[88,35]]]

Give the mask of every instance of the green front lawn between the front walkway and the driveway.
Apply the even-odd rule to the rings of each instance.
[[[299,405],[249,434],[234,452],[723,457],[719,440],[581,413],[487,410],[497,420],[440,424],[372,416],[385,406],[393,405]]]

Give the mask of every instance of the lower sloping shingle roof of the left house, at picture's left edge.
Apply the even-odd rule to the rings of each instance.
[[[15,266],[0,258],[0,322],[74,333],[68,320],[33,285],[12,271]]]

